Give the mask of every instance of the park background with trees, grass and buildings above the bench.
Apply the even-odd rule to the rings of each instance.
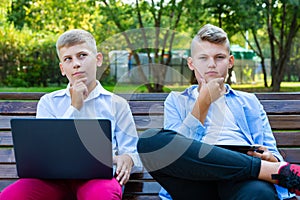
[[[0,91],[64,88],[55,42],[73,28],[95,36],[104,55],[97,78],[108,90],[182,90],[195,81],[186,58],[206,23],[228,33],[233,88],[300,91],[299,6],[298,0],[4,0]]]

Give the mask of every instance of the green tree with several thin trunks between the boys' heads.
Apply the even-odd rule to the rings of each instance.
[[[125,4],[122,1],[103,0],[101,11],[111,19],[118,31],[126,40],[127,46],[136,60],[137,69],[144,85],[149,92],[162,92],[167,68],[171,61],[175,32],[179,26],[184,11],[185,0],[182,1],[139,1]],[[146,32],[145,27],[154,27],[153,34]],[[166,28],[165,28],[166,27]],[[139,29],[139,34],[130,37],[128,30]],[[136,37],[139,37],[138,40]],[[142,41],[141,48],[137,48],[137,41]],[[153,71],[153,80],[149,80],[142,70],[139,51],[148,55],[149,64]],[[154,53],[154,58],[150,56]],[[167,59],[164,59],[167,55]],[[156,64],[153,64],[156,63]],[[159,64],[159,65],[157,65]]]

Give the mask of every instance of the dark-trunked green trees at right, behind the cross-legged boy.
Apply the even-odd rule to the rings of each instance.
[[[248,44],[261,58],[264,82],[267,87],[265,70],[266,50],[270,49],[271,75],[273,91],[279,91],[280,83],[288,66],[291,46],[299,31],[299,1],[294,0],[211,0],[204,1],[204,6],[218,19],[219,26],[229,35],[239,32],[245,40],[247,30],[252,33],[254,44]],[[251,17],[249,17],[251,16]],[[209,18],[211,20],[211,18]],[[269,44],[264,45],[265,37],[259,35],[263,30]]]

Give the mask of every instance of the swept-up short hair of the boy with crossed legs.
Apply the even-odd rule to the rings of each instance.
[[[193,38],[191,46],[193,47],[193,43],[195,42],[199,43],[202,41],[226,45],[228,52],[230,53],[230,42],[227,33],[217,26],[212,24],[204,25]]]

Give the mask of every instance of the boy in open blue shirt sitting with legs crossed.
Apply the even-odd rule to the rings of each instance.
[[[224,84],[233,64],[227,34],[210,24],[202,27],[188,58],[198,85],[171,92],[164,130],[140,137],[144,166],[174,199],[289,199],[295,196],[290,192],[300,194],[300,167],[283,161],[259,100]],[[232,144],[258,144],[263,153],[215,146]],[[165,191],[160,194],[171,199]]]

